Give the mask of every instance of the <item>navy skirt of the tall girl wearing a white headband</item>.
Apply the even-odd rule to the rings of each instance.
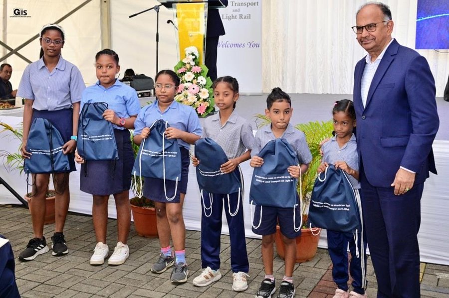
[[[49,110],[37,110],[33,109],[33,116],[31,118],[31,123],[33,123],[34,118],[44,118],[48,119],[57,130],[61,134],[62,140],[64,143],[70,140],[70,137],[73,134],[73,109],[72,108],[64,108],[56,111]],[[67,154],[70,170],[63,172],[73,172],[76,171],[75,168],[75,153]],[[59,172],[62,173],[62,172]]]

